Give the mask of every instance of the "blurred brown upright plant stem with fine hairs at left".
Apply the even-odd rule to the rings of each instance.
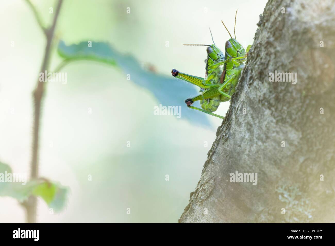
[[[44,73],[44,71],[47,70],[49,65],[52,39],[54,37],[55,27],[62,2],[63,0],[58,1],[53,23],[51,27],[46,30],[47,45],[45,48],[44,59],[40,70],[41,73]],[[33,126],[34,130],[32,139],[32,159],[31,159],[31,176],[30,176],[31,179],[38,178],[39,130],[40,130],[42,97],[44,94],[44,83],[45,82],[40,82],[39,80],[37,80],[37,86],[32,93],[34,97],[34,126]],[[30,196],[25,206],[27,210],[27,222],[36,223],[37,198],[35,196]]]

